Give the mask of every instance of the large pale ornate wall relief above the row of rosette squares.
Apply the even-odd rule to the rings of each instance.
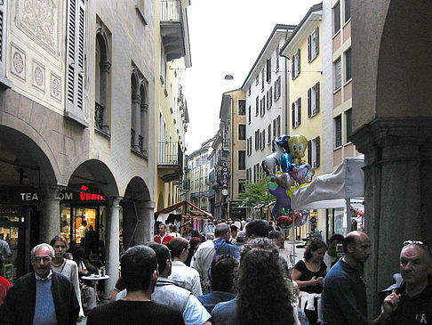
[[[16,0],[17,26],[54,56],[59,54],[61,4],[54,0]]]

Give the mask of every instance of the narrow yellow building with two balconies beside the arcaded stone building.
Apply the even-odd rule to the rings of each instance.
[[[188,0],[156,1],[155,134],[156,211],[180,200],[186,150],[188,108],[185,69],[191,66]]]

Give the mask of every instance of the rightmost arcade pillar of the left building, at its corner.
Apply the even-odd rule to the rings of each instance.
[[[135,203],[136,226],[132,238],[132,245],[144,244],[153,240],[153,228],[155,224],[154,210],[156,203],[154,201],[144,201]]]

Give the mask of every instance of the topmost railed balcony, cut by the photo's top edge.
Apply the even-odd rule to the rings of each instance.
[[[185,29],[180,0],[162,0],[161,34],[167,61],[186,55]]]

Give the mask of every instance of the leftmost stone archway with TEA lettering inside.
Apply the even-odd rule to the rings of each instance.
[[[59,171],[46,142],[9,126],[0,126],[0,152],[0,227],[5,240],[14,235],[11,263],[20,277],[30,271],[30,249],[59,234]]]

